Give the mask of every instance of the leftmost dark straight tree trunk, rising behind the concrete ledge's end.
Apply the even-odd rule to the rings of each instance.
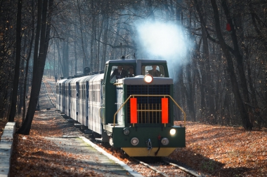
[[[14,122],[15,112],[16,112],[15,110],[16,110],[16,105],[17,105],[18,81],[20,78],[21,9],[22,9],[22,0],[18,0],[17,28],[16,28],[16,52],[15,52],[15,76],[13,80],[11,111],[9,114],[8,122]]]

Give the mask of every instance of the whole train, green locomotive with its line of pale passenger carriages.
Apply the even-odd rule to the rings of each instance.
[[[124,76],[115,76],[118,69]],[[174,125],[174,106],[183,125]],[[61,78],[56,108],[130,157],[166,157],[185,147],[185,112],[174,100],[166,60],[109,60],[102,72]]]

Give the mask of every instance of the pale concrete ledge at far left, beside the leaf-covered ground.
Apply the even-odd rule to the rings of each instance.
[[[15,134],[15,122],[7,122],[0,141],[0,177],[8,177],[13,152],[13,135]],[[8,165],[7,165],[8,164]]]

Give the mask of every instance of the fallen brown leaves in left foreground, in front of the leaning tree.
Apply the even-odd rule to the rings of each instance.
[[[15,135],[10,176],[102,176],[90,169],[84,169],[81,161],[86,157],[66,153],[54,143],[41,136]],[[88,166],[87,166],[88,167]]]

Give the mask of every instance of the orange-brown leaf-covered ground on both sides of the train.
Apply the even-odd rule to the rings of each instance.
[[[180,122],[176,122],[180,125]],[[3,129],[5,122],[0,123]],[[34,119],[29,136],[16,135],[11,162],[12,176],[101,176],[72,164],[71,154],[58,153],[44,136],[62,136],[57,118]],[[267,131],[245,131],[187,122],[186,148],[178,148],[170,157],[207,176],[266,176]],[[53,164],[53,165],[51,165]],[[75,172],[76,171],[76,172]],[[79,172],[79,173],[77,173]]]

